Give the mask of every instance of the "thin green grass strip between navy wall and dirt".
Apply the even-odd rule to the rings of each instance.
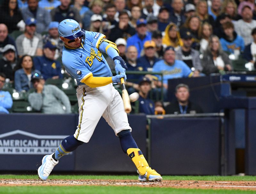
[[[0,175],[0,179],[37,179],[37,175]],[[115,179],[137,180],[133,175],[50,175],[49,179]],[[163,180],[256,181],[256,176],[163,176]]]

